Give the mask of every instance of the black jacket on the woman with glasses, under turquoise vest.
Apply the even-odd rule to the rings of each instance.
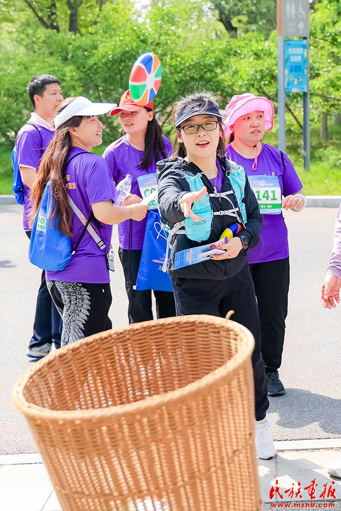
[[[221,192],[232,190],[229,179],[230,166],[229,160],[219,158],[221,168],[224,172],[224,180]],[[163,221],[171,229],[174,224],[185,220],[181,211],[179,199],[190,191],[189,184],[186,181],[183,171],[190,171],[193,174],[202,172],[199,167],[193,163],[188,163],[183,158],[177,158],[175,161],[165,159],[156,164],[156,177],[158,183],[158,204]],[[203,184],[209,193],[214,193],[214,189],[208,177],[201,174]],[[230,195],[235,207],[238,207],[235,195]],[[230,202],[220,197],[210,197],[212,210],[221,211],[232,209]],[[246,208],[247,223],[246,229],[242,229],[238,236],[245,236],[248,242],[248,248],[255,247],[259,242],[259,234],[263,225],[263,216],[260,214],[259,206],[254,192],[252,191],[246,177],[243,202]],[[171,276],[180,278],[207,278],[213,280],[223,280],[233,277],[247,264],[247,250],[241,250],[236,258],[225,259],[222,261],[202,261],[178,270],[174,269],[175,253],[186,248],[206,245],[219,240],[223,231],[229,225],[237,222],[237,219],[230,215],[214,215],[212,221],[212,230],[210,237],[205,241],[193,241],[183,234],[175,235],[172,239],[172,250],[168,272]]]

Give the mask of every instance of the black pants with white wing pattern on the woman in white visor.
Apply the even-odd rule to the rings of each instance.
[[[111,328],[110,284],[47,281],[47,286],[63,318],[62,346]]]

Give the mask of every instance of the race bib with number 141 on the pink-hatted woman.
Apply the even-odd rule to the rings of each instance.
[[[282,212],[282,192],[278,176],[247,176],[262,215]]]

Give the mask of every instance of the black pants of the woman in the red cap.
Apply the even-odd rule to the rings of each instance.
[[[151,290],[134,289],[138,278],[142,250],[125,250],[119,248],[119,257],[123,266],[125,287],[128,295],[129,323],[140,323],[153,319],[151,309]],[[153,291],[156,300],[157,318],[176,316],[174,296],[169,291]]]

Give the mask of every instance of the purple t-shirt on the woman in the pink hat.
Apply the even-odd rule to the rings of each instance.
[[[277,175],[282,196],[286,197],[302,190],[303,185],[288,156],[286,154],[283,154],[283,156],[284,167],[281,151],[268,144],[262,144],[262,150],[258,156],[257,170],[254,171],[252,170],[254,158],[244,158],[233,149],[231,144],[226,146],[226,157],[244,167],[246,175]],[[265,263],[285,259],[288,256],[288,231],[282,213],[279,215],[264,215],[259,244],[248,251],[248,262]]]

